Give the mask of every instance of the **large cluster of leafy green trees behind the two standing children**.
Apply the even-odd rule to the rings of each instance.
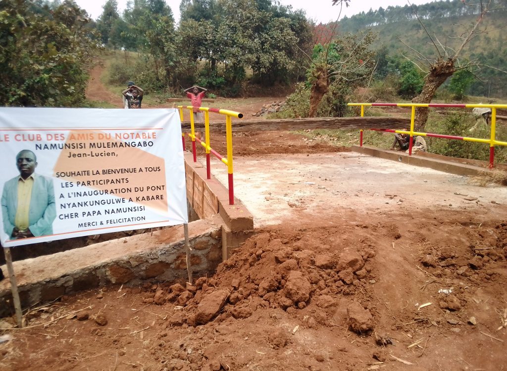
[[[247,79],[272,86],[301,75],[311,40],[301,12],[271,0],[184,0],[174,29],[159,0],[134,0],[113,22],[113,47],[145,52],[155,61],[158,81],[180,89],[199,83],[225,96],[241,93]],[[251,73],[252,76],[247,76]]]

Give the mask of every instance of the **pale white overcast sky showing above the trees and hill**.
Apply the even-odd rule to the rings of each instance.
[[[93,19],[97,19],[102,14],[102,6],[106,0],[75,0],[80,8],[86,10]],[[308,18],[315,20],[317,23],[328,23],[338,18],[340,13],[339,6],[332,6],[331,0],[279,0],[283,5],[292,5],[293,9],[303,9],[306,12]],[[166,0],[166,3],[172,10],[174,19],[176,22],[179,21],[179,3],[181,0]],[[412,4],[421,5],[425,3],[431,3],[431,0],[412,0]],[[127,4],[126,0],[118,0],[118,10],[120,14],[125,9]],[[372,0],[351,0],[351,5],[348,8],[343,7],[340,18],[344,15],[350,17],[351,15],[368,12],[370,8],[378,9],[379,7],[387,8],[388,6],[404,6],[408,5],[407,0],[384,0],[384,1],[372,1]]]

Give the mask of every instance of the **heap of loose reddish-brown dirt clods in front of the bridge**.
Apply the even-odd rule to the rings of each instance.
[[[172,286],[166,299],[184,303],[184,322],[193,326],[206,324],[217,315],[218,322],[231,316],[247,318],[257,308],[289,313],[308,308],[320,317],[324,312],[332,314],[337,305],[332,295],[350,295],[367,286],[375,252],[366,246],[332,249],[318,234],[318,230],[306,235],[258,234],[222,263],[213,278],[200,278],[191,291],[181,293],[180,285]],[[188,300],[192,291],[195,295]],[[372,329],[358,320],[360,315],[351,317],[354,330]]]

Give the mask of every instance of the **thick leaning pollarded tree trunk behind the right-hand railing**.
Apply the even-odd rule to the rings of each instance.
[[[449,76],[455,72],[455,60],[449,58],[447,60],[439,60],[431,65],[431,70],[424,78],[424,85],[421,93],[412,99],[413,103],[430,103],[435,95],[435,92]],[[415,109],[415,127],[417,130],[424,131],[424,126],[428,120],[428,108]]]

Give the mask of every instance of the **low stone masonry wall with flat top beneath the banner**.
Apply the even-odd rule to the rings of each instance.
[[[194,277],[212,274],[222,262],[218,216],[189,224]],[[188,279],[183,227],[101,242],[53,255],[14,262],[22,308],[64,294],[110,284]],[[0,282],[0,317],[13,312],[10,282]]]

